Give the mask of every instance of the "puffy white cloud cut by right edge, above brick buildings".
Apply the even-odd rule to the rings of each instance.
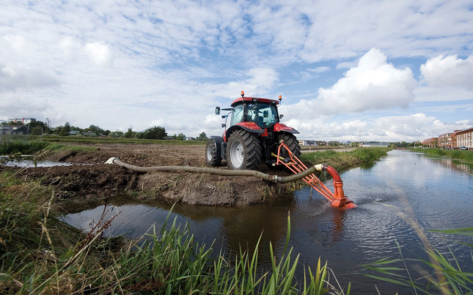
[[[473,90],[473,55],[467,59],[439,55],[422,64],[420,71],[429,86]]]

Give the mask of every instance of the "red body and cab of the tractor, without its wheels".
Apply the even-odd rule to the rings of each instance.
[[[241,129],[244,129],[248,132],[252,132],[252,133],[256,133],[256,134],[260,135],[259,140],[263,144],[264,157],[267,161],[270,161],[271,148],[274,148],[274,145],[277,145],[277,143],[275,143],[275,140],[274,140],[274,136],[275,136],[274,133],[275,132],[288,132],[288,133],[293,133],[293,134],[299,134],[299,131],[297,131],[296,129],[291,128],[289,126],[286,126],[286,124],[283,124],[283,123],[279,122],[279,119],[284,117],[284,115],[279,115],[279,113],[277,113],[277,107],[278,107],[278,105],[279,106],[281,105],[281,100],[282,100],[281,95],[278,96],[279,101],[274,100],[274,99],[259,98],[259,97],[246,97],[244,91],[241,91],[240,95],[241,95],[241,98],[237,98],[236,100],[234,100],[232,102],[232,106],[235,106],[235,104],[237,104],[239,102],[241,102],[243,104],[243,108],[244,108],[243,109],[243,113],[244,113],[243,116],[245,116],[245,120],[230,126],[228,129],[226,129],[223,132],[222,137],[220,137],[220,136],[210,136],[210,138],[212,138],[215,141],[216,146],[219,147],[216,150],[216,155],[223,158],[223,159],[226,159],[226,145],[227,145],[227,142],[228,142],[228,138],[230,137],[230,134],[232,134],[232,132],[234,132],[237,129],[241,128]],[[248,112],[248,110],[247,110],[247,103],[248,102],[274,105],[276,107],[275,111],[276,111],[276,115],[277,115],[275,117],[278,118],[278,121],[275,122],[272,126],[269,126],[270,128],[261,128],[255,122],[246,121],[246,116],[247,116],[247,112]],[[222,128],[226,128],[228,117],[229,117],[230,114],[232,114],[232,112],[235,111],[235,109],[233,107],[232,108],[225,108],[225,109],[221,109],[220,107],[215,108],[215,114],[216,115],[220,115],[220,111],[230,111],[230,113],[228,113],[227,115],[222,116],[222,118],[225,118],[225,123],[222,123]]]

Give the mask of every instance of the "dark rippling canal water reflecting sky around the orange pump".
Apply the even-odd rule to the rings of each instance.
[[[329,163],[330,164],[330,163]],[[172,218],[190,225],[196,240],[214,249],[238,251],[252,248],[262,236],[261,258],[270,268],[269,242],[276,255],[284,246],[287,215],[291,214],[290,246],[301,253],[298,275],[303,266],[316,266],[319,256],[333,268],[340,284],[352,282],[353,294],[373,293],[374,284],[381,294],[410,294],[412,290],[381,283],[358,273],[360,265],[381,258],[399,257],[396,242],[405,259],[428,259],[422,251],[425,235],[430,243],[444,253],[450,249],[464,271],[472,272],[470,248],[453,243],[450,238],[472,243],[468,236],[441,236],[428,229],[454,229],[473,225],[472,165],[448,158],[432,158],[424,154],[393,150],[371,168],[356,168],[341,175],[347,196],[358,206],[340,211],[330,207],[310,188],[297,191],[292,197],[270,204],[250,207],[202,207],[176,205]],[[332,187],[330,180],[327,185]],[[115,206],[109,216],[121,213],[113,221],[107,235],[138,237],[152,224],[160,227],[170,209],[157,201],[130,202],[126,197],[112,200]],[[99,220],[103,207],[91,204],[76,208],[66,221],[87,229],[92,219]],[[413,229],[414,228],[414,229]],[[450,248],[447,248],[450,247]],[[411,263],[406,261],[406,263]],[[404,265],[398,267],[404,268]]]

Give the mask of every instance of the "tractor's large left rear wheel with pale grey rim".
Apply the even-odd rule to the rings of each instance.
[[[245,130],[237,130],[227,142],[227,166],[231,170],[256,170],[261,163],[261,144]]]

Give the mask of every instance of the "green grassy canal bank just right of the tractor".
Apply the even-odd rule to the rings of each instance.
[[[336,152],[334,150],[307,152],[301,154],[301,160],[308,165],[327,163],[338,172],[361,164],[372,164],[392,148],[357,148],[352,151]]]

